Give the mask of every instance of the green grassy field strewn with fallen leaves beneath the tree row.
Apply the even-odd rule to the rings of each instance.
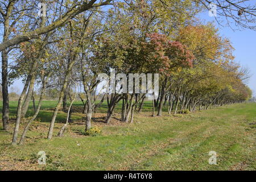
[[[16,101],[10,102],[14,118]],[[73,123],[65,136],[47,140],[49,120],[56,101],[44,101],[23,146],[11,146],[13,131],[0,130],[0,170],[255,170],[256,104],[233,104],[191,114],[151,117],[150,102],[136,113],[134,123],[118,121],[119,108],[110,125],[102,122],[106,106],[93,115],[92,126],[101,134],[81,134],[81,102],[75,102]],[[2,105],[0,105],[2,108]],[[30,106],[29,114],[32,114]],[[65,121],[60,111],[55,136]],[[14,126],[14,119],[11,119]],[[20,133],[25,125],[23,121]],[[0,129],[2,129],[2,124]],[[45,151],[46,165],[37,155]],[[217,164],[210,165],[209,151]]]

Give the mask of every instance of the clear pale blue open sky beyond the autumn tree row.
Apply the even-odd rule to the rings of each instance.
[[[231,40],[232,46],[235,48],[233,53],[236,57],[235,61],[250,70],[252,76],[247,85],[253,90],[253,95],[256,96],[256,31],[249,29],[233,31],[230,27],[219,26],[214,17],[208,15],[208,11],[201,13],[199,18],[205,22],[214,22],[219,29],[219,34]],[[11,87],[13,87],[11,90],[21,93],[23,84],[21,80],[16,80]]]

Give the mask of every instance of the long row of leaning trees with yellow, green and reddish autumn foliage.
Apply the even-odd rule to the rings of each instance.
[[[110,69],[126,76],[159,73],[160,90],[159,97],[152,101],[153,116],[155,109],[158,116],[162,115],[164,105],[168,105],[169,114],[176,114],[179,110],[208,109],[251,97],[251,90],[244,84],[247,71],[234,63],[229,40],[218,35],[212,24],[201,24],[196,18],[205,8],[205,1],[42,0],[40,3],[48,7],[46,16],[40,11],[38,16],[35,2],[4,1],[0,8],[4,30],[0,50],[5,130],[9,126],[8,85],[17,78],[24,83],[16,110],[13,144],[24,142],[45,94],[51,90],[57,90],[58,99],[48,139],[53,136],[61,105],[68,113],[58,134],[63,135],[77,96],[84,104],[85,130],[90,129],[94,111],[105,100],[106,123],[111,121],[119,102],[120,120],[133,122],[135,112],[143,109],[146,94],[98,94],[98,75],[109,75]],[[34,102],[35,114],[27,119],[18,140],[20,121],[26,117],[36,84],[40,88],[39,102],[37,106]],[[124,89],[123,85],[119,89]]]

